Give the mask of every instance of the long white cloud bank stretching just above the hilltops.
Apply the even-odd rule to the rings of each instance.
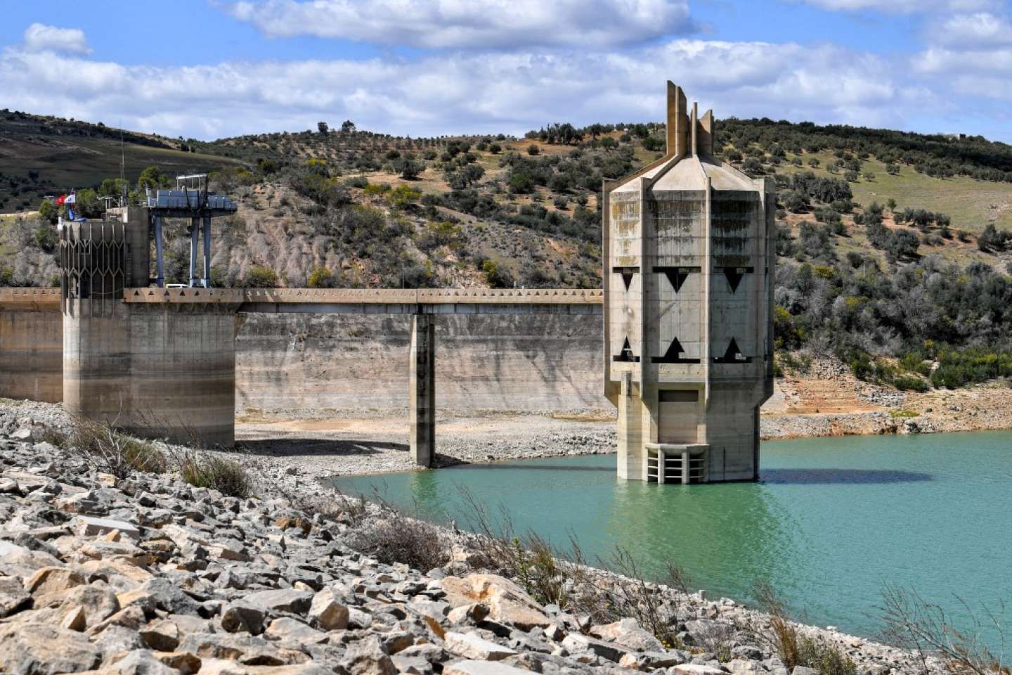
[[[15,109],[217,138],[344,118],[392,134],[522,133],[552,121],[661,119],[672,79],[718,116],[903,125],[925,91],[880,59],[833,46],[676,39],[607,54],[456,53],[418,61],[156,68],[52,52],[0,53]],[[66,73],[75,73],[66,87]]]

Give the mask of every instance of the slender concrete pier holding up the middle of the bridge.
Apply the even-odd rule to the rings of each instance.
[[[411,456],[419,467],[431,467],[436,454],[436,324],[431,314],[411,318],[409,371]]]

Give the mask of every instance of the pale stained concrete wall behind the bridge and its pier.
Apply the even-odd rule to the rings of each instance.
[[[411,317],[240,314],[236,408],[312,416],[408,404]],[[0,311],[0,397],[60,402],[63,318]],[[439,408],[610,408],[600,315],[436,317]]]

